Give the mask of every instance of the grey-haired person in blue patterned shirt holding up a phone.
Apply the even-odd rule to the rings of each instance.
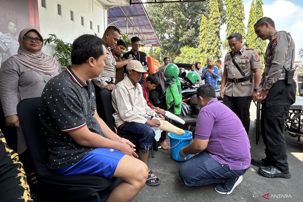
[[[207,67],[203,68],[201,79],[205,80],[205,84],[211,84],[212,87],[217,88],[217,80],[219,78],[219,70],[212,64],[213,57],[207,57]]]

